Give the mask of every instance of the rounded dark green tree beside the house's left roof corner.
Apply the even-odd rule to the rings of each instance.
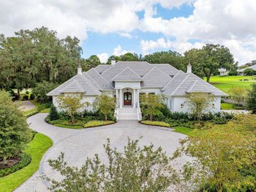
[[[46,94],[51,92],[58,85],[55,83],[49,83],[47,81],[42,81],[42,83],[36,83],[35,88],[32,89],[32,93],[36,95],[40,102],[50,102],[51,97]]]

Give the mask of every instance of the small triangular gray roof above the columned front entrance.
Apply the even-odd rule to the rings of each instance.
[[[142,78],[131,70],[131,68],[127,67],[125,70],[117,74],[112,81],[142,81]]]

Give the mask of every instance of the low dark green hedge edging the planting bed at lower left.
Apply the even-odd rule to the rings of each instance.
[[[26,154],[26,153],[19,154],[19,157],[20,157],[20,161],[18,163],[14,164],[11,167],[7,167],[7,168],[4,168],[4,169],[0,170],[0,177],[4,177],[4,176],[9,175],[13,172],[17,172],[17,170],[20,170],[20,169],[24,168],[32,160],[31,156],[29,156],[29,154]]]

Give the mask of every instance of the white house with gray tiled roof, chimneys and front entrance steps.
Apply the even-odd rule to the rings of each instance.
[[[163,94],[166,106],[170,111],[189,112],[186,104],[186,94],[204,92],[214,95],[211,111],[220,111],[221,92],[211,84],[191,72],[177,70],[169,64],[150,64],[146,61],[111,60],[111,65],[98,65],[82,72],[77,68],[77,75],[58,86],[47,95],[52,96],[52,102],[58,110],[58,97],[68,94],[83,94],[83,101],[92,104],[97,95],[105,93],[116,97],[115,111],[118,119],[141,119],[140,95]],[[92,106],[87,108],[92,110]]]

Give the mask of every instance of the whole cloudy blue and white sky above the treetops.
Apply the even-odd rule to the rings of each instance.
[[[83,57],[225,45],[256,60],[256,0],[0,0],[0,33],[45,26],[81,40]]]

